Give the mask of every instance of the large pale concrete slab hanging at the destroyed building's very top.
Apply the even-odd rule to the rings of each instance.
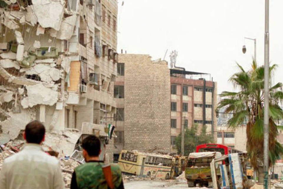
[[[64,14],[64,6],[60,2],[50,0],[32,0],[34,14],[39,24],[44,27],[52,27],[58,31]]]

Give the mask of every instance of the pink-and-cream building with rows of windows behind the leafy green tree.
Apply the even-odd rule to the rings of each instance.
[[[193,124],[206,125],[206,132],[216,136],[217,83],[204,78],[188,79],[204,73],[185,71],[183,68],[170,69],[171,82],[171,151],[177,152],[175,141],[184,129]]]

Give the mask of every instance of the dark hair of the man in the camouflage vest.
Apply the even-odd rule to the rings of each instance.
[[[94,135],[83,139],[82,147],[88,152],[89,156],[98,156],[100,151],[100,140]]]

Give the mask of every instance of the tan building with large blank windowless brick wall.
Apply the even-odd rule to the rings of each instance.
[[[149,55],[119,54],[115,150],[170,152],[170,71]]]

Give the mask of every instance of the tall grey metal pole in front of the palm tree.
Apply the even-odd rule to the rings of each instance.
[[[264,142],[263,142],[263,171],[264,189],[268,189],[268,137],[269,137],[269,0],[265,0],[265,32],[264,32]]]

